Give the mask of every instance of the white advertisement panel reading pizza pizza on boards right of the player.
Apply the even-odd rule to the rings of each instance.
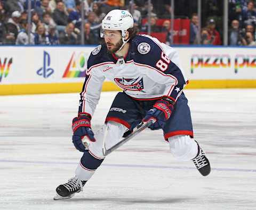
[[[177,48],[190,80],[255,80],[256,48]]]

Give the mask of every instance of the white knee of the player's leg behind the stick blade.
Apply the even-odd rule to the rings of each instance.
[[[105,131],[108,130],[105,137]],[[106,148],[115,145],[123,136],[127,128],[121,123],[108,121],[103,127],[95,133],[95,142],[90,144],[89,152],[97,158],[104,158],[102,153],[103,138],[105,138]]]

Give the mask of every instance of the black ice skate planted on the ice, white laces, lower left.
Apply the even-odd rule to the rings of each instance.
[[[75,195],[76,192],[83,191],[83,187],[86,181],[78,179],[76,176],[69,179],[67,183],[60,184],[56,188],[57,195],[54,200],[68,199]]]

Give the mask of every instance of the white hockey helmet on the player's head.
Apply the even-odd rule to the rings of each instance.
[[[121,31],[122,38],[124,38],[127,32],[127,29],[133,27],[133,18],[131,13],[126,10],[112,10],[102,20],[101,27],[102,27],[102,33],[103,33],[103,30],[105,29]],[[101,37],[103,37],[102,33],[101,33]],[[127,40],[125,42],[127,42]]]

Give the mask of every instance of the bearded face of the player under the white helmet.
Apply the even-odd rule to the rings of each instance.
[[[104,39],[109,53],[115,53],[123,44],[120,31],[104,30]]]

